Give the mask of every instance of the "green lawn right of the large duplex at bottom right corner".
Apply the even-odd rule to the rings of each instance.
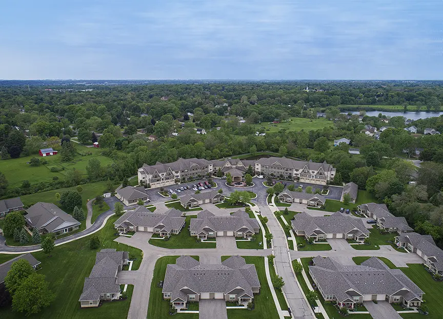
[[[354,257],[352,260],[359,265],[369,258],[370,257]],[[443,295],[443,284],[434,281],[431,274],[426,271],[422,264],[408,264],[408,267],[398,268],[386,258],[379,259],[384,261],[391,269],[400,269],[425,292],[425,304],[429,307],[429,315],[426,316],[426,318],[441,319],[443,317],[443,299],[441,298]],[[419,313],[402,313],[401,316],[406,319],[419,319],[425,317]]]

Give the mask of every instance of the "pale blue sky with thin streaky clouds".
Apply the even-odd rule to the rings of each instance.
[[[0,79],[442,79],[443,0],[14,0]]]

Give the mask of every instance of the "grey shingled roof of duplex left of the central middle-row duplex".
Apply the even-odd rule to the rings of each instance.
[[[172,229],[180,229],[186,218],[182,217],[182,212],[171,208],[164,214],[152,212],[144,206],[138,206],[134,210],[128,210],[115,222],[115,226],[125,226],[125,223],[131,223],[134,226],[161,228],[164,231],[171,232]]]

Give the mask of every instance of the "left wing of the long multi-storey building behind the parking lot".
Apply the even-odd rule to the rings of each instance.
[[[161,187],[175,184],[176,179],[195,179],[211,173],[212,163],[206,159],[180,158],[168,164],[157,162],[155,165],[143,165],[138,169],[138,181],[151,187]]]

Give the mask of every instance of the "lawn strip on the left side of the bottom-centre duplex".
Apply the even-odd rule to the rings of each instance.
[[[148,318],[167,319],[169,315],[170,302],[163,299],[162,288],[157,287],[160,280],[165,280],[166,266],[175,264],[180,256],[165,256],[157,259],[151,282],[151,293],[149,295]],[[192,256],[198,260],[198,256]],[[174,318],[198,319],[198,313],[177,313]]]

